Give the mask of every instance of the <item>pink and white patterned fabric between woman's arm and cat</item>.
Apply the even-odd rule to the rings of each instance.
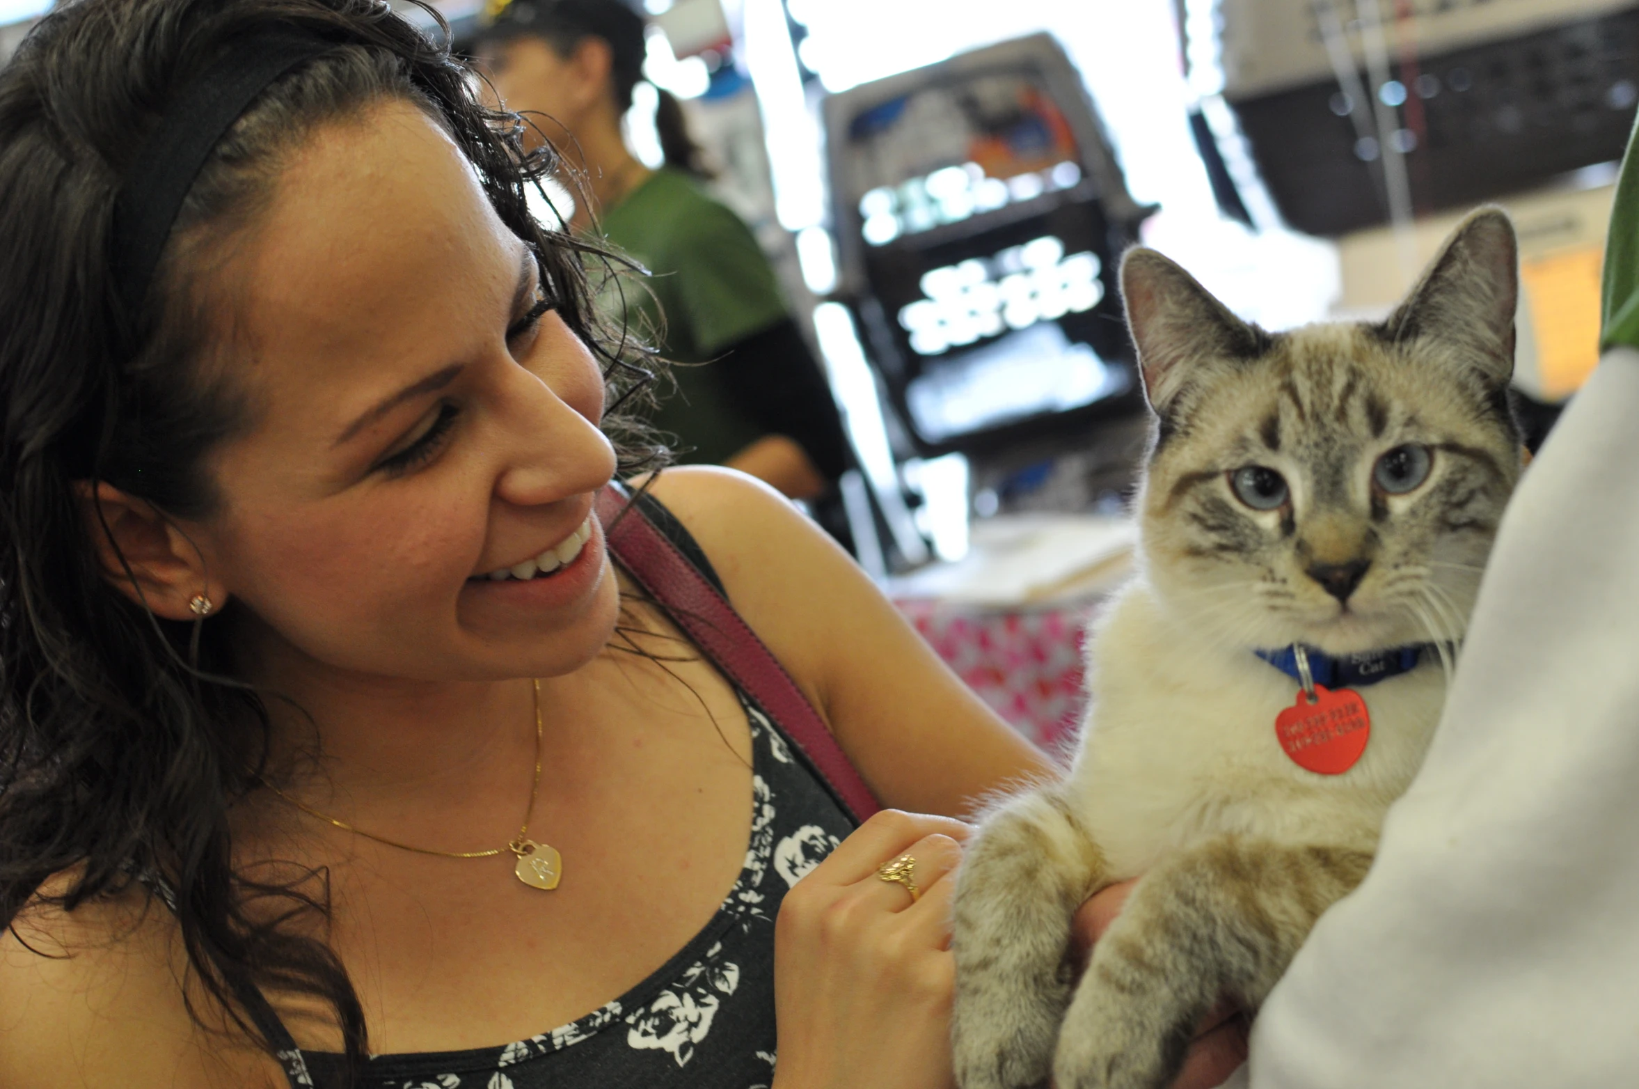
[[[900,608],[934,651],[1019,733],[1047,751],[1080,727],[1082,645],[1096,604],[993,612],[926,599]]]

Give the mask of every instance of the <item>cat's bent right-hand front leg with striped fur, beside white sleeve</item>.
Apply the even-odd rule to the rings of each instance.
[[[1255,1010],[1370,864],[1364,850],[1241,836],[1159,864],[1093,948],[1059,1037],[1057,1089],[1167,1086],[1213,1002]]]

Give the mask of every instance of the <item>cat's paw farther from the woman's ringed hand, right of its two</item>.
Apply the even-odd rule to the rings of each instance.
[[[1165,1089],[1190,1038],[1169,1007],[1160,994],[1121,994],[1088,973],[1059,1030],[1054,1087]]]

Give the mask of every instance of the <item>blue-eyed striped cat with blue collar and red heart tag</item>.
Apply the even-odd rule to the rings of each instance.
[[[1152,410],[1139,569],[1090,640],[1069,772],[997,800],[957,873],[962,1089],[1169,1084],[1213,1002],[1255,1010],[1364,879],[1521,472],[1516,262],[1483,208],[1385,321],[1267,333],[1126,254]],[[1277,715],[1310,702],[1295,645],[1369,730],[1283,727],[1288,756]],[[1074,981],[1075,909],[1139,874]]]

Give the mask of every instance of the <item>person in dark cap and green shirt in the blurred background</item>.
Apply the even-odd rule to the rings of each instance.
[[[644,21],[624,0],[511,0],[479,39],[508,108],[531,116],[583,172],[597,228],[654,276],[628,287],[634,323],[657,330],[677,390],[652,415],[688,461],[726,464],[792,499],[826,492],[846,467],[842,425],[756,238],[708,197],[682,107],[659,90],[665,166],[626,148],[621,120],[642,79]],[[577,208],[577,225],[593,216]]]

